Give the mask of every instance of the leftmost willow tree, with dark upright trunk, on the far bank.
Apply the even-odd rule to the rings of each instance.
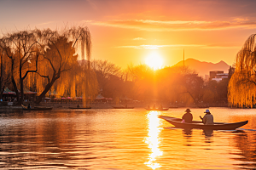
[[[11,60],[11,80],[20,104],[24,99],[23,82],[29,73],[37,71],[38,56],[44,51],[39,45],[40,38],[38,30],[29,30],[9,33],[0,39],[1,48]]]

